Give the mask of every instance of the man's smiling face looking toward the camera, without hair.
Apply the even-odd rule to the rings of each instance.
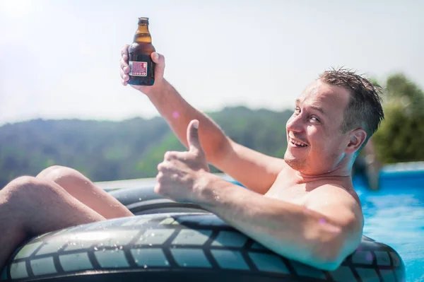
[[[296,100],[288,119],[284,160],[307,175],[320,175],[337,168],[348,144],[341,131],[348,90],[314,81]]]

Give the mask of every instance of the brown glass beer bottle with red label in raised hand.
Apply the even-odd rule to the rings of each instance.
[[[139,18],[139,28],[134,41],[129,45],[129,84],[153,86],[155,83],[155,63],[151,54],[155,52],[152,37],[148,31],[148,18]]]

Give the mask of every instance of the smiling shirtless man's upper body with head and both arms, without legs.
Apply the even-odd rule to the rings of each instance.
[[[133,87],[148,96],[189,149],[165,153],[155,192],[199,204],[285,257],[336,269],[363,232],[351,170],[384,118],[380,88],[351,71],[325,71],[295,101],[286,124],[288,148],[279,159],[225,136],[165,81],[164,57],[153,53],[152,58],[157,64],[155,85]],[[124,85],[127,60],[125,46]],[[212,175],[208,162],[249,189]]]

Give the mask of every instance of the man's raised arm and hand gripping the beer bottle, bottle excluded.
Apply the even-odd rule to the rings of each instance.
[[[199,120],[199,138],[206,159],[216,168],[226,172],[249,189],[264,194],[276,180],[283,168],[283,160],[253,151],[231,141],[206,114],[196,110],[182,98],[174,87],[163,78],[165,58],[158,53],[152,54],[155,62],[155,83],[153,86],[132,86],[146,94],[158,112],[165,118],[172,131],[184,146],[187,126],[192,119]],[[122,83],[128,81],[128,45],[122,49]]]

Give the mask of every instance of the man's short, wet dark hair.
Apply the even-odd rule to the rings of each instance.
[[[363,143],[365,145],[384,119],[381,86],[355,74],[351,69],[343,68],[324,71],[319,79],[349,90],[351,98],[344,110],[341,131],[346,133],[351,129],[364,129],[367,132],[367,139]]]

